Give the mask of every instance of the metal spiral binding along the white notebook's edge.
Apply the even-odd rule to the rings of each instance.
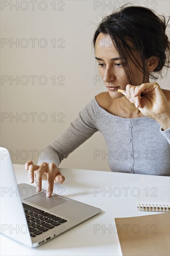
[[[168,204],[138,204],[137,209],[139,211],[156,211],[156,212],[170,212],[170,206]]]

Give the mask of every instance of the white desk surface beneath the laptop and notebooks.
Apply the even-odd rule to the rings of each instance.
[[[14,164],[14,169],[17,183],[30,184],[24,165]],[[114,218],[153,214],[152,212],[137,211],[137,197],[134,196],[137,194],[137,190],[133,188],[139,188],[139,178],[143,175],[59,169],[65,175],[65,182],[54,184],[56,193],[101,208],[102,212],[37,248],[27,248],[6,236],[0,235],[0,255],[122,255],[118,235],[114,232]],[[146,179],[147,176],[150,175],[145,175]],[[157,178],[159,177],[157,176]],[[33,183],[33,185],[35,184]],[[43,181],[42,185],[46,187],[46,181]],[[153,186],[153,183],[150,186],[146,182],[146,187]],[[59,187],[61,189],[57,190]],[[125,189],[123,189],[125,187],[130,188],[127,189],[127,196],[125,196]],[[96,193],[96,196],[94,196],[94,188],[98,188],[96,189],[98,192],[101,191]],[[109,189],[111,194],[105,192]],[[119,193],[120,195],[116,196]],[[109,227],[110,229],[108,229]],[[101,229],[95,232],[97,228]]]

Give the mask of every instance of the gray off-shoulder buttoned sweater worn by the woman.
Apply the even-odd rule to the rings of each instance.
[[[70,126],[44,148],[47,158],[39,158],[38,165],[53,162],[59,167],[64,158],[99,131],[108,152],[94,151],[94,157],[108,157],[112,172],[170,176],[170,128],[164,131],[147,116],[121,115],[112,115],[92,98]]]

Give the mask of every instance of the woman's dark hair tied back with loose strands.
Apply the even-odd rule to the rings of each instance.
[[[170,42],[165,34],[167,27],[165,20],[164,15],[158,16],[149,8],[122,6],[118,11],[102,19],[92,39],[93,47],[95,48],[99,33],[109,35],[119,53],[130,84],[135,85],[134,76],[131,67],[127,61],[124,62],[124,59],[133,57],[141,67],[133,52],[139,53],[142,60],[143,83],[147,82],[149,78],[157,79],[158,76],[153,73],[163,77],[162,68],[163,66],[169,67],[165,65],[166,61],[168,65],[170,63]],[[152,72],[147,72],[145,60],[151,56],[158,57],[159,62]],[[133,63],[136,65],[134,61]]]

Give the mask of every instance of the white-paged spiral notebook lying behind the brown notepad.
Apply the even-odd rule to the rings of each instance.
[[[170,177],[144,175],[139,181],[139,211],[170,212]]]

